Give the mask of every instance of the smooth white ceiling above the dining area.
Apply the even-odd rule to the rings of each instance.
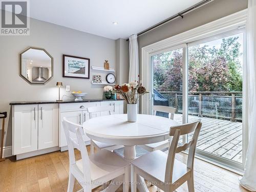
[[[199,2],[201,0],[33,0],[30,16],[118,39],[139,33]]]

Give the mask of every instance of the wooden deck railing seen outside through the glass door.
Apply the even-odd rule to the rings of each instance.
[[[159,92],[182,113],[182,92]],[[188,92],[188,114],[242,121],[242,92]]]

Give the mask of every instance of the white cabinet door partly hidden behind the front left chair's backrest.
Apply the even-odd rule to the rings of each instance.
[[[77,124],[81,124],[82,123],[82,111],[73,111],[73,112],[63,112],[60,115],[60,142],[59,142],[59,146],[67,146],[67,139],[65,136],[65,132],[63,130],[63,125],[62,125],[62,120],[63,118],[66,117],[67,120],[77,123]],[[71,133],[72,134],[72,133]],[[72,137],[72,135],[71,135]],[[74,138],[76,138],[75,135],[73,135]]]

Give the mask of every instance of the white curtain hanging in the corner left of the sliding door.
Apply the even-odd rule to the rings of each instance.
[[[130,71],[129,82],[139,80],[139,48],[137,41],[137,34],[129,37],[129,58],[130,58]]]

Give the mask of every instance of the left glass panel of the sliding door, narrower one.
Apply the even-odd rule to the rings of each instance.
[[[182,67],[183,49],[170,49],[151,57],[153,71],[153,105],[165,105],[176,108],[175,120],[183,122]],[[168,117],[157,112],[157,115]],[[183,143],[182,137],[179,144]]]

